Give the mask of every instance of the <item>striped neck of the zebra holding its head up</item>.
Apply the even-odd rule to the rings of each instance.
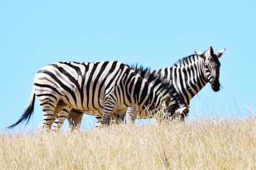
[[[189,101],[205,86],[204,60],[197,56],[186,60],[186,64],[172,67],[171,81],[173,86],[184,98],[184,102],[189,104]],[[189,63],[190,61],[190,63]]]

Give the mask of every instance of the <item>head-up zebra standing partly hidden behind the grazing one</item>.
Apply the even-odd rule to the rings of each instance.
[[[153,71],[159,78],[166,80],[172,85],[179,96],[182,97],[186,106],[189,106],[189,101],[206,85],[211,83],[212,90],[218,92],[220,90],[220,57],[225,52],[225,48],[214,54],[212,46],[205,52],[195,52],[180,59],[173,67],[164,67]],[[188,113],[189,110],[187,110]],[[187,113],[184,115],[186,116]],[[118,118],[124,120],[126,115],[126,122],[134,122],[134,113],[120,113]],[[172,115],[175,117],[175,115]],[[70,128],[78,128],[81,125],[83,113],[72,110],[68,117]],[[98,116],[97,122],[100,122],[101,117]],[[149,118],[138,113],[136,118]],[[130,121],[129,121],[130,120]],[[120,121],[119,121],[120,122]]]

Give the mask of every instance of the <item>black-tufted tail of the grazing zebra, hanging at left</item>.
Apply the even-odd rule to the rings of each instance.
[[[6,129],[12,129],[13,127],[20,124],[20,122],[23,122],[23,121],[26,121],[27,122],[26,125],[27,125],[29,119],[31,118],[31,115],[33,115],[34,105],[35,105],[35,92],[33,90],[31,97],[29,99],[28,106],[26,107],[26,110],[24,111],[22,116],[19,118],[19,120],[15,124],[6,127]]]

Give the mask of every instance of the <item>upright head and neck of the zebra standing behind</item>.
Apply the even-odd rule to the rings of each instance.
[[[157,74],[168,80],[183,97],[186,104],[205,86],[211,83],[214,91],[220,90],[220,61],[221,50],[214,54],[212,47],[209,50],[196,52],[179,60],[175,66],[157,70]]]

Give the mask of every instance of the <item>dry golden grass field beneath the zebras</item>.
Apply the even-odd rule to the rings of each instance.
[[[256,118],[0,136],[0,169],[256,169]]]

